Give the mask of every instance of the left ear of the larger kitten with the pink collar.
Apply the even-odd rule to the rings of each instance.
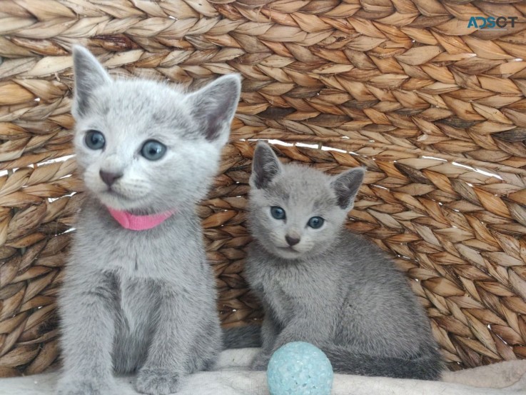
[[[72,112],[81,116],[88,111],[88,101],[93,91],[111,83],[111,77],[98,63],[95,56],[84,46],[73,47],[73,73],[75,76],[75,97]]]

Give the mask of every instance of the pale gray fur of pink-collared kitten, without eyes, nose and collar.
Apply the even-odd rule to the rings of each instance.
[[[192,94],[154,81],[113,81],[79,46],[74,74],[74,144],[87,191],[59,298],[58,393],[118,394],[113,371],[136,371],[141,393],[173,393],[182,376],[206,369],[221,351],[215,281],[195,205],[218,169],[240,79],[223,76]],[[221,104],[211,106],[214,100]],[[88,149],[90,129],[103,132],[104,149]],[[148,139],[168,147],[162,159],[140,156]],[[113,192],[101,170],[123,174]],[[176,214],[130,231],[105,206]]]

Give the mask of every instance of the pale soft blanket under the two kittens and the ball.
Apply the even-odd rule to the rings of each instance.
[[[268,395],[265,372],[249,371],[258,349],[226,350],[213,371],[191,374],[178,395]],[[0,395],[51,395],[57,371],[0,379]],[[135,395],[133,376],[119,377],[119,395]],[[526,361],[507,361],[446,372],[443,381],[419,381],[335,374],[333,395],[526,395]]]

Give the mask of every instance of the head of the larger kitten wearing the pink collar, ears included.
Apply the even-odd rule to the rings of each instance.
[[[187,94],[156,81],[114,81],[74,47],[76,160],[88,191],[117,210],[193,205],[216,174],[241,91],[238,75]]]

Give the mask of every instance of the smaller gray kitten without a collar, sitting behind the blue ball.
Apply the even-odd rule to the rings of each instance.
[[[338,373],[440,378],[438,346],[404,274],[345,230],[364,174],[283,165],[270,146],[256,147],[246,277],[265,319],[253,369],[266,369],[283,344],[308,341]]]

